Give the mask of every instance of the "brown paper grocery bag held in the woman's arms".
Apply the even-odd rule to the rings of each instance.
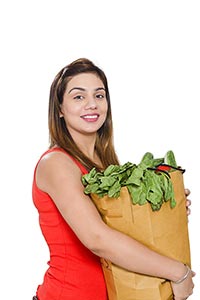
[[[104,196],[91,198],[104,222],[140,241],[160,254],[191,265],[186,215],[183,174],[170,173],[176,206],[164,202],[159,211],[152,211],[150,204],[133,205],[129,192],[123,187],[119,198]],[[170,282],[122,269],[104,259],[102,268],[109,300],[170,300],[173,293]]]

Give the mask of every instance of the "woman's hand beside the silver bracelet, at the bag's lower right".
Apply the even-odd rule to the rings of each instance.
[[[171,281],[172,290],[174,293],[174,300],[186,300],[193,293],[194,283],[192,277],[195,276],[195,272],[190,270],[186,279],[180,283]]]

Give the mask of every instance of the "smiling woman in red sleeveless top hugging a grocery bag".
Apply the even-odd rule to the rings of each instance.
[[[83,192],[83,174],[119,164],[107,79],[91,61],[78,59],[55,77],[49,134],[50,148],[39,159],[33,180],[33,201],[50,251],[36,299],[106,300],[100,257],[133,272],[166,278],[175,299],[186,299],[193,291],[194,272],[109,228]]]

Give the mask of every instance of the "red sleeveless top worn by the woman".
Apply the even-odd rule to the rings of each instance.
[[[52,151],[62,151],[68,155],[64,150],[54,148],[46,151],[41,158]],[[78,161],[72,157],[71,159],[78,165],[82,174],[87,173]],[[43,283],[37,288],[38,299],[107,300],[99,257],[79,241],[50,196],[37,187],[35,172],[32,194],[39,213],[41,231],[50,251],[49,268]]]

